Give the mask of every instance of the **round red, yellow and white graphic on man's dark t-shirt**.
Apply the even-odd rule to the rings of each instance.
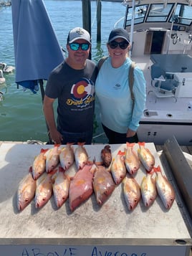
[[[72,85],[72,98],[67,100],[67,105],[85,108],[85,106],[95,100],[94,93],[95,88],[92,81],[87,80],[87,78],[82,78],[82,80],[76,82],[75,85]]]

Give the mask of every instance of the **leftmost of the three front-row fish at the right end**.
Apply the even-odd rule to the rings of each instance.
[[[123,179],[123,194],[125,202],[130,211],[133,211],[140,202],[140,186],[138,182],[131,176],[125,176]]]

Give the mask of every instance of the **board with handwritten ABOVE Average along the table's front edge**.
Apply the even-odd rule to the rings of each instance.
[[[0,245],[4,256],[188,256],[189,251],[186,246],[157,245]]]

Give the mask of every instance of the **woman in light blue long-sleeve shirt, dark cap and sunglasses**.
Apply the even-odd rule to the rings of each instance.
[[[110,144],[138,142],[136,131],[145,109],[145,78],[142,70],[133,72],[131,98],[128,74],[132,61],[128,57],[129,34],[125,29],[113,29],[107,42],[109,57],[100,67],[95,92],[100,103],[102,128]]]

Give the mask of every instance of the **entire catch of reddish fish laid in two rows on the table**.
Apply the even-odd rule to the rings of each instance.
[[[168,180],[155,169],[155,158],[141,143],[138,154],[133,150],[134,144],[127,144],[125,152],[119,151],[112,158],[110,146],[101,151],[100,165],[88,161],[85,147],[80,143],[75,151],[71,144],[59,149],[58,145],[48,150],[42,149],[34,159],[29,174],[20,182],[17,191],[17,207],[19,211],[27,207],[34,198],[35,207],[42,207],[54,194],[57,207],[69,197],[69,207],[74,211],[82,202],[85,202],[95,192],[97,204],[102,205],[112,194],[115,187],[123,181],[123,191],[128,209],[134,209],[142,195],[143,202],[149,207],[157,195],[156,189],[163,204],[170,208],[174,200],[174,191]],[[128,153],[130,152],[130,153]],[[69,177],[67,170],[76,163],[75,176]],[[130,176],[135,174],[143,163],[147,171],[142,184]],[[127,174],[128,171],[128,174]],[[157,174],[153,179],[153,173]]]

